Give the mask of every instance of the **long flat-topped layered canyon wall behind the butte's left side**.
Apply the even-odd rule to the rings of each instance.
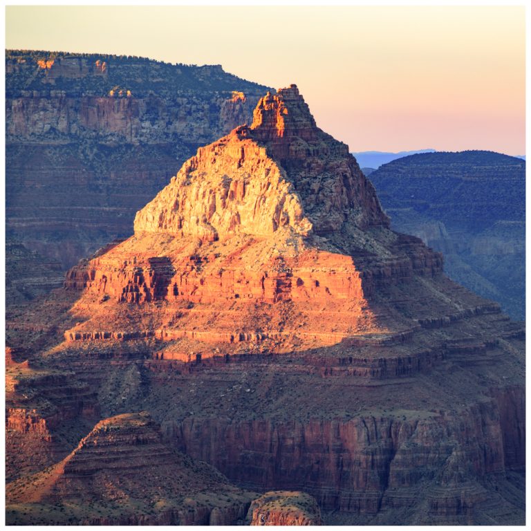
[[[129,236],[198,146],[252,120],[264,89],[221,66],[8,50],[8,236],[64,269]]]

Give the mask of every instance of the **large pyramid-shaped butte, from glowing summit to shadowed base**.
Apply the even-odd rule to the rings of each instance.
[[[389,228],[297,86],[198,149],[65,287],[50,304],[71,298],[68,329],[39,370],[73,371],[102,417],[148,411],[174,449],[321,513],[268,493],[248,518],[523,523],[523,327]]]

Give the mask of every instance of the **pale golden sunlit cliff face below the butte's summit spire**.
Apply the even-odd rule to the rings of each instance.
[[[227,176],[230,174],[230,177]],[[196,176],[205,175],[198,179]],[[135,218],[135,232],[167,232],[216,241],[234,234],[312,229],[295,188],[241,130],[200,148]]]

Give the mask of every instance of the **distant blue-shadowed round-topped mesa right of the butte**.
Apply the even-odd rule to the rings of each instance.
[[[447,274],[525,319],[525,161],[424,153],[371,174],[396,230],[445,254]]]

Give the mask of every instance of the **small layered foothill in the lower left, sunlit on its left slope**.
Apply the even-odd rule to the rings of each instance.
[[[98,422],[57,465],[11,483],[6,515],[11,524],[230,525],[252,497],[162,443],[149,414],[129,413]]]

